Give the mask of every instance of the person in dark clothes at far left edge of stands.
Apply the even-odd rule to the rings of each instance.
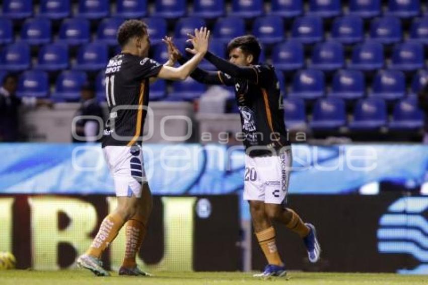
[[[35,97],[16,97],[18,79],[15,75],[7,75],[0,87],[0,141],[21,141],[23,135],[20,132],[20,106],[52,107],[52,101],[48,99],[36,99]]]

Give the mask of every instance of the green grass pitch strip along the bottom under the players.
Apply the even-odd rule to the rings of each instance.
[[[372,273],[306,273],[289,272],[287,277],[269,280],[255,279],[245,272],[153,272],[153,277],[118,276],[96,277],[86,270],[34,271],[4,270],[0,271],[2,285],[46,285],[46,284],[145,284],[145,285],[256,285],[256,284],[428,284],[428,275],[397,275]]]

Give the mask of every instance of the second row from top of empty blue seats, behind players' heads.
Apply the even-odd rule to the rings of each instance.
[[[155,42],[167,35],[167,22],[163,18],[145,19],[149,26],[149,33]],[[116,44],[116,31],[124,20],[121,18],[103,19],[98,25],[97,38],[108,44]],[[205,26],[206,22],[199,17],[181,18],[174,28],[175,38],[187,38],[187,33],[195,28]],[[51,23],[47,18],[27,19],[21,28],[21,39],[30,44],[42,44],[52,41]],[[222,41],[244,35],[245,22],[242,18],[227,17],[217,20],[213,27],[213,36]],[[263,44],[272,44],[286,38],[284,22],[278,16],[265,16],[256,18],[253,22],[252,33]],[[428,44],[428,17],[416,18],[410,28],[410,39]],[[89,42],[91,37],[90,23],[82,18],[63,20],[59,29],[59,40],[68,44],[81,44]],[[319,17],[306,16],[297,18],[293,22],[291,38],[304,44],[322,41],[324,36],[323,21]],[[364,40],[363,20],[356,16],[336,18],[331,29],[331,38],[343,44],[358,43]],[[376,18],[371,22],[370,39],[382,44],[400,42],[403,39],[401,21],[392,16]],[[11,43],[13,38],[13,25],[8,19],[0,19],[0,44]]]

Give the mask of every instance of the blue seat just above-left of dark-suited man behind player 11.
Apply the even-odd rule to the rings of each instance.
[[[79,101],[82,85],[87,81],[85,72],[80,70],[64,70],[56,78],[55,91],[52,99],[55,101]]]

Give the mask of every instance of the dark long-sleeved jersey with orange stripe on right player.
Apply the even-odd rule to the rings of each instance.
[[[215,56],[211,54],[212,57]],[[218,57],[215,59],[211,63],[222,67],[233,65]],[[180,59],[180,62],[184,63],[185,59]],[[234,86],[244,134],[243,142],[250,156],[269,155],[272,149],[290,145],[279,82],[272,65],[236,66],[234,76],[221,71],[205,72],[196,68],[191,77],[205,84]]]

